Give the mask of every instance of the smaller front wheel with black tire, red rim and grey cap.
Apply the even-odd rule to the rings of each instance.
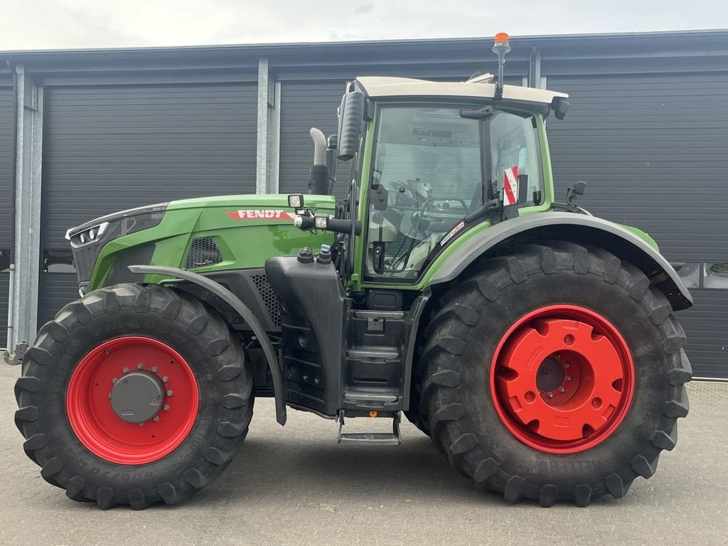
[[[229,464],[253,415],[253,381],[226,323],[157,285],[63,307],[25,354],[15,395],[43,478],[102,508],[188,499]]]

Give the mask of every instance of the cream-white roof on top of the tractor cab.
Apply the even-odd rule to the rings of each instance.
[[[388,97],[457,97],[492,99],[496,92],[491,74],[483,74],[469,82],[430,82],[425,79],[393,78],[389,76],[365,76],[357,83],[371,98]],[[504,85],[503,100],[550,105],[554,98],[569,95],[555,91]]]

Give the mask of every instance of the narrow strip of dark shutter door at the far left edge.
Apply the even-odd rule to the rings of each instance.
[[[12,83],[0,79],[0,252],[9,253],[12,247]],[[4,260],[0,260],[4,261]],[[0,269],[2,269],[0,267]],[[7,337],[7,298],[9,274],[0,271],[0,347]]]

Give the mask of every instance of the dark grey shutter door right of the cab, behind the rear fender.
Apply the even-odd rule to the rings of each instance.
[[[728,262],[728,74],[548,76],[568,92],[549,142],[563,201],[574,181],[595,215],[644,229],[673,262]],[[728,377],[728,292],[695,288],[678,318],[695,376]]]

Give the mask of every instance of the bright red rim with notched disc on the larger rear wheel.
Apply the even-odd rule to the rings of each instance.
[[[552,305],[508,329],[493,356],[490,387],[515,438],[546,453],[578,453],[624,420],[634,365],[627,342],[601,314]]]

